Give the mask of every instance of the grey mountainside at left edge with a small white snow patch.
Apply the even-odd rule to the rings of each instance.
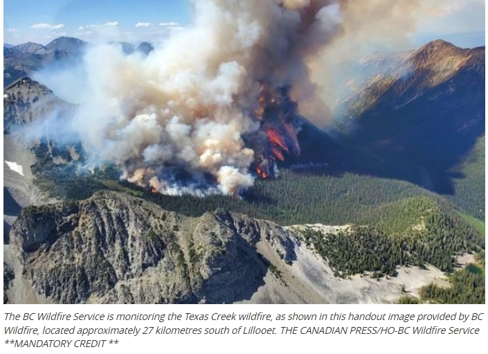
[[[57,130],[73,109],[51,89],[30,78],[21,78],[3,90],[3,159],[10,163],[3,164],[4,193],[10,196],[3,200],[7,228],[15,221],[19,206],[50,200],[39,191],[43,176],[66,168],[71,153],[77,149],[81,152],[78,145],[53,143],[52,139],[59,135]]]

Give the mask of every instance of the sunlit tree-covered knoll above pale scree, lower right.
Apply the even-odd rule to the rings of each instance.
[[[402,209],[403,206],[406,209]],[[457,264],[453,255],[481,251],[485,245],[484,238],[456,218],[455,213],[425,197],[393,203],[383,209],[386,213],[381,213],[381,209],[377,211],[378,218],[386,225],[395,224],[395,232],[381,231],[385,224],[380,222],[325,235],[307,228],[302,236],[307,245],[313,245],[327,260],[336,276],[362,272],[372,272],[372,277],[395,276],[399,265],[424,267],[426,263],[452,272]],[[404,219],[408,221],[401,224]],[[415,222],[418,223],[411,226]]]

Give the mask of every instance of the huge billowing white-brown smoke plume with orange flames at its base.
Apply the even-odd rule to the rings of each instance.
[[[238,193],[300,153],[298,107],[327,114],[310,63],[345,36],[343,20],[361,1],[193,3],[194,24],[147,57],[89,49],[90,99],[76,125],[129,182],[166,194]]]

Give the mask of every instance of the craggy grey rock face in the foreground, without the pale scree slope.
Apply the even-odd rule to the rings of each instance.
[[[293,259],[293,234],[218,210],[188,218],[123,193],[28,207],[10,240],[35,292],[55,303],[230,303],[249,299],[268,242]]]

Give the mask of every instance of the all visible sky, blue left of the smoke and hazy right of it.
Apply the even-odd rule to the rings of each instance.
[[[413,44],[444,37],[459,46],[485,45],[485,0],[438,3],[419,22]],[[89,42],[156,41],[188,26],[191,9],[185,0],[4,0],[3,40],[47,44],[69,36]]]

